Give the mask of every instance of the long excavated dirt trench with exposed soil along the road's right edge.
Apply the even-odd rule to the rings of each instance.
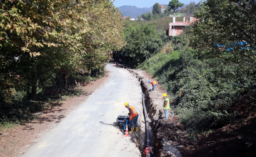
[[[162,95],[166,91],[158,86],[156,91],[153,92],[151,84],[148,83],[148,80],[152,80],[152,78],[149,75],[146,76],[144,71],[128,69],[119,64],[117,66],[127,69],[141,82],[150,125],[150,146],[153,147],[154,152],[152,156],[181,157],[178,148],[183,147],[182,144],[187,132],[183,130],[183,126],[178,122],[178,117],[170,114],[171,110],[169,110],[168,120],[165,120]],[[141,137],[141,139],[139,142],[143,143],[144,138]]]

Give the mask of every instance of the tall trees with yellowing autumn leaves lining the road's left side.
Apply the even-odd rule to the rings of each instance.
[[[48,84],[53,74],[90,73],[123,47],[121,13],[110,0],[0,2],[0,94]],[[101,17],[101,18],[99,18]],[[59,72],[57,72],[59,71]]]

